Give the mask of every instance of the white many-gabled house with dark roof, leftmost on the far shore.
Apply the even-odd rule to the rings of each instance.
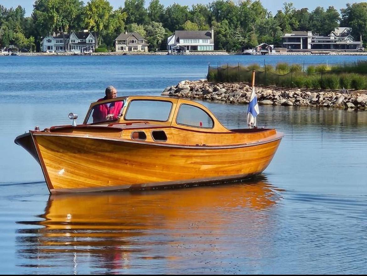
[[[69,41],[69,34],[64,33],[66,43]],[[70,34],[69,49],[66,52],[83,52],[83,51],[94,51],[95,38],[92,33],[88,30],[84,31],[73,31]],[[65,46],[63,41],[62,33],[54,34],[51,36],[44,37],[41,42],[42,52],[65,52]]]

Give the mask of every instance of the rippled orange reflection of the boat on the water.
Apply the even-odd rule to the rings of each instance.
[[[81,262],[94,272],[113,273],[142,260],[176,259],[173,249],[180,243],[230,243],[238,231],[262,235],[280,198],[281,191],[263,177],[164,191],[50,195],[43,220],[18,222],[37,227],[18,230],[17,251],[28,267],[73,268]]]

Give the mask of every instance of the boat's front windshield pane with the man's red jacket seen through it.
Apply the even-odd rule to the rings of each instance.
[[[116,121],[121,116],[125,101],[112,101],[95,105],[87,120],[87,124]]]

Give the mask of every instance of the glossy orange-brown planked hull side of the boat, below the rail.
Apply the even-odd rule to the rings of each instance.
[[[281,139],[255,145],[195,147],[32,135],[51,193],[149,189],[248,178],[264,171]]]

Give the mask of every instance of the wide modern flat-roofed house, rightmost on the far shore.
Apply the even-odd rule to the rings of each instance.
[[[312,31],[292,31],[282,36],[283,48],[287,50],[357,51],[361,42],[354,41],[349,27],[335,28],[328,36],[319,36]]]

